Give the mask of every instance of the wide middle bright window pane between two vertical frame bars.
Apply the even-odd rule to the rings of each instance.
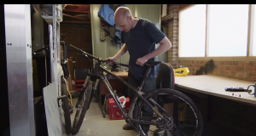
[[[247,56],[249,5],[208,6],[208,56]]]

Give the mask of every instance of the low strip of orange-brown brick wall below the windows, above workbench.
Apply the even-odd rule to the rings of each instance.
[[[178,65],[189,67],[189,75],[212,74],[256,82],[256,60],[178,60]]]

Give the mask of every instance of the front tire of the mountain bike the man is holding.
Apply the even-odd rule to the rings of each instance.
[[[77,109],[76,115],[74,117],[73,128],[72,128],[73,135],[79,133],[79,129],[82,126],[85,113],[88,110],[88,107],[90,105],[89,103],[90,103],[91,91],[92,91],[92,84],[89,83],[88,87],[86,88],[86,90],[84,92],[84,95],[85,95],[84,106],[80,109],[80,111]],[[82,99],[84,99],[84,97]],[[83,101],[82,101],[82,103],[83,103]]]

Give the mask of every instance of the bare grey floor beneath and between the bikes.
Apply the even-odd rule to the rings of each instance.
[[[77,99],[73,99],[73,107]],[[73,108],[71,122],[75,116],[76,108]],[[64,121],[64,120],[63,120]],[[136,136],[134,130],[123,130],[125,120],[109,120],[109,116],[102,116],[102,111],[97,103],[97,99],[92,99],[90,109],[86,111],[84,122],[76,136]]]

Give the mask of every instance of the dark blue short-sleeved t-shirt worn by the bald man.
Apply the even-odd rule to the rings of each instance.
[[[130,31],[121,32],[122,43],[126,44],[130,54],[129,74],[137,80],[141,80],[141,77],[147,69],[147,65],[137,65],[137,59],[153,52],[155,44],[159,43],[164,37],[166,37],[166,35],[160,31],[154,23],[142,18],[139,18],[137,25]],[[155,58],[148,59],[148,62],[154,60]],[[154,68],[152,68],[148,74],[148,79],[154,78],[156,74]]]

